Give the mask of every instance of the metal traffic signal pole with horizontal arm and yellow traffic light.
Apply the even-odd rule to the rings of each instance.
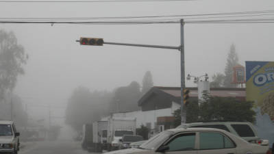
[[[163,46],[163,45],[150,45],[150,44],[130,44],[130,43],[120,43],[120,42],[102,42],[99,45],[103,44],[112,44],[112,45],[124,45],[124,46],[134,46],[134,47],[149,47],[149,48],[161,48],[161,49],[176,49],[181,52],[181,125],[186,123],[186,105],[184,104],[184,89],[186,88],[185,84],[185,65],[184,65],[184,19],[180,20],[181,27],[181,43],[179,47],[173,46]],[[76,42],[80,42],[82,45],[92,45],[92,43],[87,44],[87,42],[82,42],[81,40],[86,39],[98,39],[98,38],[81,38],[80,40],[76,40]],[[97,44],[98,45],[98,44]]]

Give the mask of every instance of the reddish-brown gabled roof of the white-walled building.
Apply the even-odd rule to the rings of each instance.
[[[198,97],[197,87],[190,87],[189,96]],[[138,101],[138,105],[142,105],[153,94],[162,94],[164,97],[169,97],[172,101],[179,103],[181,97],[180,87],[160,87],[154,86],[146,94],[144,94]],[[210,88],[210,96],[212,97],[242,97],[245,98],[245,88]]]

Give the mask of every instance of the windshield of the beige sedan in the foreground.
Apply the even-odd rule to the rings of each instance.
[[[171,135],[173,135],[173,131],[163,131],[162,133],[158,133],[158,135],[140,145],[140,148],[154,150],[156,147],[160,146],[160,144],[166,141]]]

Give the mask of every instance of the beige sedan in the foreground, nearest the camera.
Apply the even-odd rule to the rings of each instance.
[[[165,153],[165,154],[265,154],[268,140],[249,143],[228,131],[212,128],[181,128],[162,131],[138,149],[123,149],[106,154]]]

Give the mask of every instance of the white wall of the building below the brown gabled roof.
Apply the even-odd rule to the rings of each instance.
[[[171,108],[161,110],[151,110],[142,112],[141,110],[135,112],[115,113],[114,117],[132,117],[136,118],[136,127],[139,128],[141,125],[146,126],[147,123],[151,123],[151,129],[155,128],[157,117],[159,116],[173,116],[173,112],[179,109],[180,105],[173,102]],[[106,117],[101,120],[107,119]]]

